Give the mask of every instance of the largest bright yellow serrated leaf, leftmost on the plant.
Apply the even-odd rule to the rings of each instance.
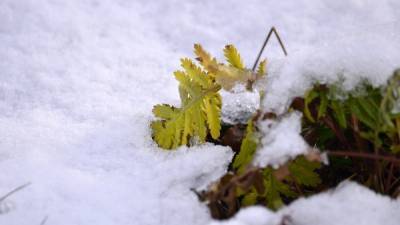
[[[200,143],[205,142],[207,130],[210,130],[212,138],[219,137],[221,97],[218,91],[220,87],[212,85],[212,81],[207,80],[210,78],[190,63],[182,61],[187,73],[183,71],[174,73],[179,81],[181,108],[156,105],[153,110],[154,115],[161,119],[151,124],[153,139],[165,149],[187,145],[193,137],[197,137]],[[201,82],[207,85],[202,86]]]

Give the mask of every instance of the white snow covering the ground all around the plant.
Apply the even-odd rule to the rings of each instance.
[[[233,43],[250,66],[276,26],[289,57],[271,42],[263,105],[280,111],[310,78],[384,82],[400,66],[399,10],[397,0],[1,0],[0,196],[32,184],[1,203],[0,224],[209,223],[189,189],[223,174],[232,152],[161,151],[148,128],[154,104],[178,103],[179,58],[197,42],[221,58]],[[333,193],[247,216],[354,224],[365,206],[375,214],[363,224],[400,221],[398,201],[355,184]],[[330,202],[342,210],[326,214]]]

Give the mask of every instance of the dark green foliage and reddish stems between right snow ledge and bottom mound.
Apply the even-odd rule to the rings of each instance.
[[[399,94],[400,71],[396,71],[382,87],[364,81],[343,92],[337,84],[316,84],[305,94],[303,106],[292,104],[304,112],[302,133],[307,142],[332,155],[332,170],[323,177],[339,182],[339,177],[351,176],[378,192],[396,193],[394,181],[400,174],[393,167],[400,162],[396,156],[400,153]]]

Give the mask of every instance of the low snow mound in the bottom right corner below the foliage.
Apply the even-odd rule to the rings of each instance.
[[[354,182],[309,198],[298,199],[273,213],[260,206],[241,210],[228,221],[210,225],[397,225],[400,202],[381,196]]]

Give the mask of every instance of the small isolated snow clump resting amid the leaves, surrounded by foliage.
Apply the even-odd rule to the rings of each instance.
[[[297,155],[307,153],[310,148],[300,135],[301,117],[301,113],[292,112],[278,121],[260,121],[262,138],[253,165],[277,167]]]

